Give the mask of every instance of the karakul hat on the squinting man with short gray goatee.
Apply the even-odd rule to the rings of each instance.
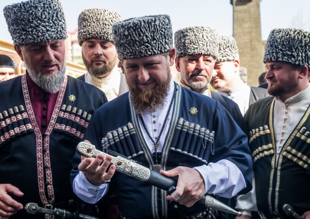
[[[203,54],[216,59],[219,54],[219,32],[208,27],[188,27],[177,30],[175,54],[177,58]]]

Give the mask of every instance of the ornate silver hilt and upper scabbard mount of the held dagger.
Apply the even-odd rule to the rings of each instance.
[[[86,142],[80,142],[76,150],[78,154],[84,157],[97,157],[99,154],[102,154],[104,158],[106,158],[109,155],[107,153],[97,150],[95,145]],[[116,166],[117,171],[132,176],[144,182],[150,178],[151,175],[150,169],[146,168],[145,166],[140,165],[137,162],[130,160],[126,157],[121,156],[117,157],[111,156],[111,157],[112,157],[111,163],[113,163]]]

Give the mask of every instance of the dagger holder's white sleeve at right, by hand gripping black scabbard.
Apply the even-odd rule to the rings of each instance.
[[[232,198],[246,187],[246,181],[239,168],[226,159],[194,167],[205,181],[206,193]]]

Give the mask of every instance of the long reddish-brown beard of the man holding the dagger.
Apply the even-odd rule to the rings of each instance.
[[[168,88],[170,84],[170,68],[167,69],[168,77],[162,84],[157,85],[156,88],[146,88],[140,90],[139,88],[133,88],[129,83],[127,84],[130,91],[131,102],[134,105],[135,112],[138,114],[149,114],[155,112],[157,109],[161,109],[166,101],[168,94]]]

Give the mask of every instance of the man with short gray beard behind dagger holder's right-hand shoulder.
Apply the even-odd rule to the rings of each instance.
[[[175,67],[181,75],[181,86],[219,101],[243,130],[244,121],[238,105],[208,89],[219,53],[218,45],[219,34],[214,28],[179,29],[175,32]]]

